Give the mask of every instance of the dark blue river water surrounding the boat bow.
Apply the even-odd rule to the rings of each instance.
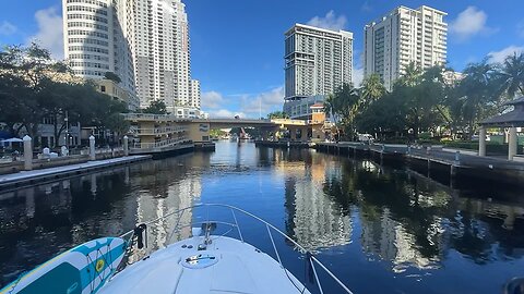
[[[524,277],[521,191],[475,182],[451,188],[404,167],[218,142],[215,152],[0,192],[0,284],[78,244],[198,203],[263,218],[355,293],[501,293]],[[174,222],[164,224],[150,229],[150,249],[168,243]],[[265,228],[243,228],[248,242],[271,250],[259,245],[267,244]],[[275,242],[284,265],[307,275],[289,243]]]

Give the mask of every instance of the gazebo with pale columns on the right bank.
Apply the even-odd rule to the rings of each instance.
[[[510,112],[489,118],[480,123],[480,130],[478,132],[478,156],[486,156],[487,127],[509,127],[508,160],[513,160],[513,157],[516,155],[519,144],[516,127],[524,126],[524,96],[509,101],[504,103],[504,106],[513,106],[514,109]]]

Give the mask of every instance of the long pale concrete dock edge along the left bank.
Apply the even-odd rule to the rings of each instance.
[[[44,184],[59,179],[91,173],[97,170],[150,160],[151,155],[128,156],[105,160],[94,160],[78,164],[62,166],[49,169],[22,171],[0,175],[0,191],[19,188],[27,185]]]

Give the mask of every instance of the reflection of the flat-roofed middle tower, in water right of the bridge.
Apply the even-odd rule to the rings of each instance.
[[[275,170],[285,176],[287,234],[312,252],[350,243],[350,216],[323,193],[324,179],[338,172],[329,166],[334,162],[309,152],[289,155],[282,149],[272,154]]]

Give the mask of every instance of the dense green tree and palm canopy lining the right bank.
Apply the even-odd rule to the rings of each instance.
[[[417,138],[422,132],[448,132],[468,137],[480,121],[500,113],[503,102],[524,95],[523,53],[509,56],[501,64],[472,63],[452,83],[445,73],[450,69],[436,65],[422,71],[410,63],[391,91],[371,74],[358,89],[337,88],[324,109],[349,139],[355,133]]]

